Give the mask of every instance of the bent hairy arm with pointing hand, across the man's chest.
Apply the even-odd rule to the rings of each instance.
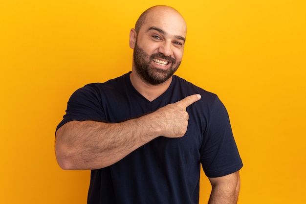
[[[181,137],[188,125],[186,107],[199,98],[191,95],[121,123],[67,122],[56,132],[56,159],[63,169],[99,169],[123,159],[158,136]]]

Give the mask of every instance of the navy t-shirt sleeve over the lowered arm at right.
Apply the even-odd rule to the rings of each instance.
[[[217,97],[207,119],[201,146],[201,163],[207,177],[221,177],[242,167],[228,113]]]

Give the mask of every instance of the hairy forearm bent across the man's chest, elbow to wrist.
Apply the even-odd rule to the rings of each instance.
[[[63,169],[109,166],[157,136],[138,119],[122,123],[71,121],[56,133],[55,152]],[[148,129],[150,128],[151,131]]]

